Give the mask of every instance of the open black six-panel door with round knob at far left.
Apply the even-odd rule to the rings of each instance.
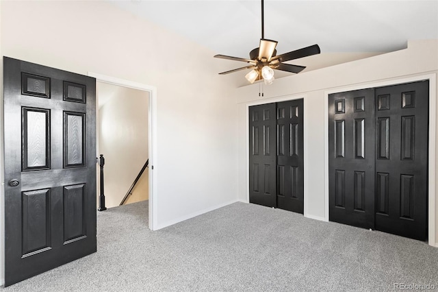
[[[5,285],[96,252],[94,78],[3,58]]]

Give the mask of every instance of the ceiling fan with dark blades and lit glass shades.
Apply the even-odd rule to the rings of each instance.
[[[302,49],[297,49],[296,51],[289,51],[288,53],[283,53],[276,56],[276,40],[268,40],[264,33],[264,12],[263,12],[263,0],[261,0],[261,39],[258,48],[253,49],[249,53],[249,59],[237,58],[224,55],[216,55],[214,58],[235,60],[240,62],[248,63],[247,66],[242,68],[233,69],[230,71],[225,71],[219,73],[220,75],[229,74],[245,69],[253,69],[248,74],[245,75],[246,80],[253,84],[256,80],[263,79],[265,84],[272,84],[274,81],[274,70],[287,71],[292,73],[300,73],[304,70],[305,66],[298,66],[292,64],[284,64],[289,60],[295,60],[298,58],[303,58],[307,56],[312,56],[321,52],[318,45],[312,45],[310,47],[305,47]]]

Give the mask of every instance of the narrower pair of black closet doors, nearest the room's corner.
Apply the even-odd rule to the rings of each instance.
[[[249,107],[250,203],[304,211],[303,100]]]

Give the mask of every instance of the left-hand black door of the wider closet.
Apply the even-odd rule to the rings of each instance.
[[[329,219],[374,229],[374,89],[329,95]]]

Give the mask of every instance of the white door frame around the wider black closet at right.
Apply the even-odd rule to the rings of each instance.
[[[400,77],[391,80],[368,82],[365,84],[341,86],[330,90],[324,90],[324,221],[329,221],[329,95],[365,88],[391,86],[397,84],[429,81],[429,132],[428,132],[428,244],[438,247],[436,242],[436,206],[437,194],[435,193],[435,145],[436,145],[436,113],[437,113],[437,74],[415,75]]]

